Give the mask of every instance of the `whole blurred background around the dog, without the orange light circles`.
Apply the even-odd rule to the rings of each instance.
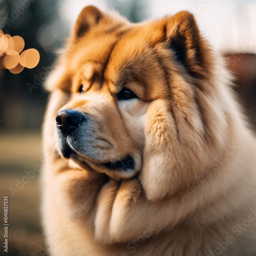
[[[10,224],[8,253],[2,247],[0,255],[47,255],[39,253],[44,246],[39,172],[30,172],[41,166],[41,125],[48,97],[43,84],[79,12],[91,4],[102,11],[115,10],[135,23],[181,10],[193,12],[205,37],[226,57],[226,68],[236,75],[234,90],[256,127],[256,1],[0,0],[0,29],[22,36],[25,50],[40,53],[33,69],[20,74],[0,69],[0,191],[1,200],[9,197]],[[2,205],[3,201],[1,223]]]

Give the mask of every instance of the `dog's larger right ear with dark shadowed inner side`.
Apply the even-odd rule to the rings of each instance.
[[[184,65],[191,75],[203,77],[209,72],[209,48],[202,40],[193,14],[181,11],[167,18],[164,33],[167,47],[173,51],[175,60]]]

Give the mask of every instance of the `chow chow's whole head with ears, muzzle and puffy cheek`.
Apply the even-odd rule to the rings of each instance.
[[[65,94],[59,154],[115,179],[138,174],[152,201],[177,193],[226,144],[213,62],[188,12],[133,25],[84,8],[47,84]]]

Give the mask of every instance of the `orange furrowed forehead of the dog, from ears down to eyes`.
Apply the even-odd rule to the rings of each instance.
[[[88,84],[90,90],[94,87],[101,89],[103,82],[108,81],[111,92],[116,93],[125,83],[134,81],[137,77],[144,79],[144,82],[139,82],[145,87],[150,82],[164,84],[160,81],[162,71],[157,67],[155,58],[155,46],[161,40],[162,29],[155,23],[125,25],[121,32],[97,31],[80,39],[75,53],[70,57],[69,66],[76,76],[83,76],[88,81],[96,80],[96,87]],[[78,70],[82,72],[79,73]],[[157,75],[148,70],[157,71]],[[145,90],[148,91],[146,88]],[[150,91],[147,94],[146,98],[152,100]],[[152,94],[155,98],[159,96],[159,93]]]

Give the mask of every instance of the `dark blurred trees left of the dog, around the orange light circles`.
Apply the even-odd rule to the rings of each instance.
[[[59,0],[0,0],[0,29],[25,40],[25,48],[39,51],[34,69],[20,74],[0,70],[0,129],[38,129],[47,94],[42,84],[52,69],[55,51],[65,41],[69,27],[58,15]],[[31,88],[29,84],[33,84]]]

